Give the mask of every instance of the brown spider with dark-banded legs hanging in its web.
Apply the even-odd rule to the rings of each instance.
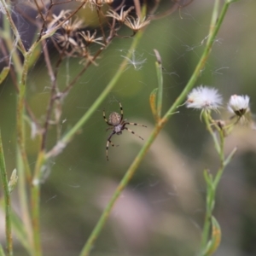
[[[105,120],[105,122],[108,125],[112,126],[112,127],[109,127],[107,129],[107,131],[110,130],[110,129],[113,130],[110,133],[110,135],[108,137],[108,141],[107,141],[107,146],[106,146],[106,157],[107,157],[107,160],[108,160],[108,146],[109,146],[109,143],[114,147],[114,144],[110,140],[111,137],[113,137],[114,134],[120,135],[120,134],[122,134],[123,130],[127,130],[127,131],[130,131],[132,134],[134,134],[135,136],[137,136],[137,137],[139,137],[140,139],[143,140],[142,137],[138,136],[134,131],[131,131],[131,129],[125,127],[125,125],[138,125],[138,126],[147,127],[146,125],[140,125],[140,124],[137,124],[137,123],[129,123],[129,122],[127,122],[127,119],[123,119],[124,112],[123,112],[123,107],[122,107],[121,102],[119,102],[119,107],[120,107],[121,114],[116,113],[116,112],[110,113],[108,119],[106,118],[105,110],[103,110],[103,119]]]

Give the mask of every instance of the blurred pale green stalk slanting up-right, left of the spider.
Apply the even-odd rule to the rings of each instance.
[[[71,130],[67,131],[67,133],[61,138],[61,140],[57,143],[57,145],[55,147],[58,147],[58,145],[66,145],[72,139],[72,137],[79,131],[79,129],[82,127],[82,125],[84,125],[84,123],[88,119],[90,119],[90,116],[96,111],[96,109],[100,107],[103,100],[108,96],[108,93],[111,90],[113,90],[113,87],[117,83],[121,74],[124,72],[126,65],[127,65],[127,59],[129,59],[131,57],[131,53],[132,53],[133,49],[135,49],[137,47],[137,44],[139,43],[140,38],[142,38],[142,34],[143,34],[143,32],[137,32],[137,35],[133,39],[131,47],[128,50],[128,53],[124,58],[124,61],[119,66],[118,71],[114,74],[113,79],[111,79],[111,81],[108,83],[106,88],[102,91],[101,95],[97,97],[96,101],[93,102],[91,107],[87,110],[86,113],[84,113],[82,118],[79,119],[79,121],[75,125],[73,125],[73,128]],[[54,151],[55,151],[55,148],[52,148],[48,152],[48,154],[46,154],[46,158],[51,157]]]

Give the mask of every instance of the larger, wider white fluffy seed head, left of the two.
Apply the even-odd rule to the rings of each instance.
[[[200,86],[191,90],[186,102],[187,108],[217,110],[222,104],[222,96],[215,88]]]

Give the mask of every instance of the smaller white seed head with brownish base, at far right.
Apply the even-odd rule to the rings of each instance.
[[[232,113],[236,113],[238,116],[242,116],[243,114],[247,113],[249,108],[250,98],[249,96],[239,96],[239,95],[232,95],[230,96],[230,101],[228,103],[228,109]]]

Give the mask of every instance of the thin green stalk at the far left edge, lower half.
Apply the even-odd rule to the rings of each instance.
[[[6,247],[7,247],[7,254],[9,256],[12,256],[13,255],[13,238],[12,238],[12,229],[11,229],[11,204],[10,204],[8,177],[7,177],[7,172],[5,168],[5,160],[4,160],[4,154],[3,154],[1,131],[0,131],[0,172],[1,172],[1,178],[3,183],[3,195],[4,195],[4,204],[5,204]]]

